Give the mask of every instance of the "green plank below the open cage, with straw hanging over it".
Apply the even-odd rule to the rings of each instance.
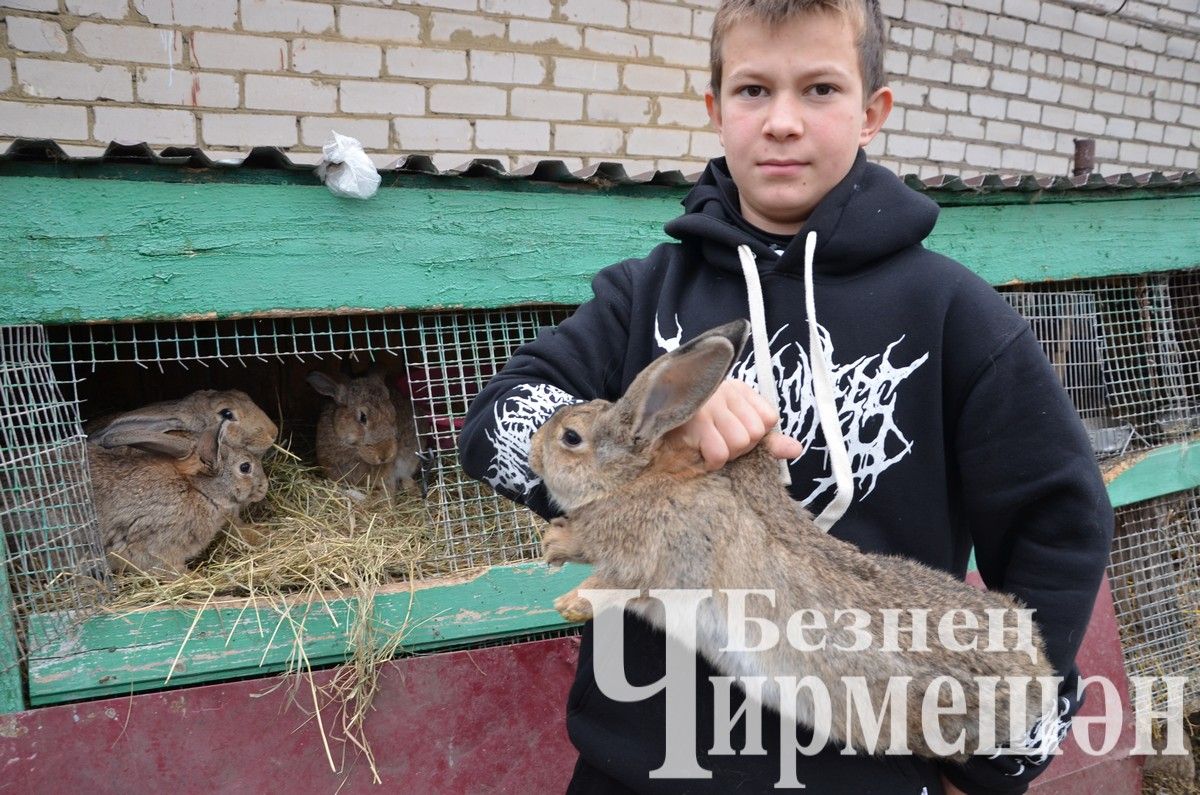
[[[524,563],[424,587],[412,597],[407,591],[379,594],[374,626],[384,635],[403,628],[403,650],[414,652],[562,629],[568,624],[553,600],[588,570]],[[91,617],[29,660],[30,704],[156,689],[172,670],[172,687],[278,673],[288,668],[296,636],[313,667],[340,663],[358,609],[358,599],[350,598],[287,609],[239,605]]]

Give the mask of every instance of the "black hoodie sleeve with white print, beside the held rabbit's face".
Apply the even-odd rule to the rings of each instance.
[[[592,281],[593,298],[558,327],[521,346],[472,401],[458,437],[466,472],[545,519],[557,512],[529,468],[534,431],[560,406],[620,391],[629,339],[630,270],[619,263]]]

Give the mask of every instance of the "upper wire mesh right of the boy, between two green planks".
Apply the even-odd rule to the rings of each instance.
[[[1200,431],[1200,271],[1001,293],[1033,327],[1098,459]]]

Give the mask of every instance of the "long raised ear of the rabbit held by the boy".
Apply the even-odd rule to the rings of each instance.
[[[710,329],[650,363],[617,410],[629,419],[636,446],[659,440],[686,423],[725,379],[742,352],[749,324],[734,321]]]

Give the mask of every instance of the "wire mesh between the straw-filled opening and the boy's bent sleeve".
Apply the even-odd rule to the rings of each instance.
[[[512,353],[570,309],[418,315],[404,348],[418,428],[428,441],[431,521],[445,538],[452,568],[492,566],[538,555],[538,518],[468,477],[456,443],[467,407]]]

